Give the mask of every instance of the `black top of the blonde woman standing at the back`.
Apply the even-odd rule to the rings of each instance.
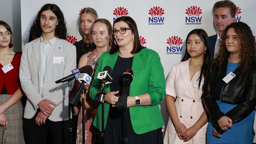
[[[78,66],[79,59],[83,54],[91,52],[96,48],[94,43],[86,43],[83,41],[83,39],[74,43],[74,46],[76,46],[76,67]]]

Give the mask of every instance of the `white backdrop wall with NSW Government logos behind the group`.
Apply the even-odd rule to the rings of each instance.
[[[44,4],[60,7],[67,22],[67,41],[80,41],[78,17],[83,7],[93,7],[99,18],[113,20],[122,15],[132,17],[137,23],[141,43],[158,52],[165,71],[180,62],[185,50],[187,33],[195,28],[204,29],[208,35],[215,35],[212,7],[218,0],[21,0],[22,47],[28,42],[29,29],[37,12]],[[237,7],[237,21],[247,23],[256,35],[256,1],[232,0]],[[177,39],[176,39],[177,38]],[[183,53],[183,54],[182,54]],[[168,121],[164,103],[161,112]]]

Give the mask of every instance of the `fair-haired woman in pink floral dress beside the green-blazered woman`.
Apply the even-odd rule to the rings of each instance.
[[[111,35],[111,24],[108,20],[102,18],[98,19],[93,23],[91,30],[91,37],[96,45],[96,49],[82,55],[79,60],[78,68],[85,65],[90,65],[93,68],[93,75],[98,64],[98,59],[100,55],[109,50],[111,47],[112,35]],[[93,78],[93,76],[91,76]],[[89,87],[91,84],[86,85],[87,92],[85,94],[85,144],[91,144],[93,142],[93,137],[95,137],[95,127],[92,126],[93,118],[95,117],[97,106],[91,100],[89,96]],[[82,103],[82,97],[80,99]],[[77,135],[76,144],[82,144],[82,107],[80,108],[80,113],[77,123]]]

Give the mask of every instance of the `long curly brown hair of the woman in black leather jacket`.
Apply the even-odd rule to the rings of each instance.
[[[225,30],[221,34],[219,53],[216,55],[216,59],[214,59],[213,63],[216,63],[220,68],[221,65],[223,65],[224,61],[228,59],[230,55],[230,52],[228,52],[225,44],[226,33],[230,28],[235,29],[237,39],[241,43],[241,50],[239,53],[239,67],[241,68],[242,72],[245,72],[252,63],[252,59],[256,57],[256,50],[254,43],[255,38],[252,35],[252,30],[247,24],[243,22],[233,22],[225,28]]]

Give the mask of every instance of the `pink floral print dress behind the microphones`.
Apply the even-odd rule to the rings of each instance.
[[[86,65],[90,65],[93,68],[93,75],[94,77],[96,66],[98,65],[98,59],[97,55],[95,54],[95,50],[87,53],[87,63]],[[93,81],[93,79],[91,80]],[[87,98],[90,98],[89,96],[89,88],[90,85],[86,85],[86,88],[88,89],[85,93]],[[93,118],[91,117],[91,114],[89,111],[85,109],[85,144],[91,144],[92,142],[92,136],[95,134],[95,127],[92,127],[93,125]],[[80,108],[79,116],[78,116],[78,122],[77,122],[77,133],[76,133],[76,144],[82,144],[82,106]]]

